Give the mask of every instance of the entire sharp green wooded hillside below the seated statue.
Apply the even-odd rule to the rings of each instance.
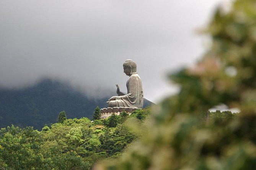
[[[142,126],[144,121],[125,112],[111,117],[95,122],[88,118],[66,119],[50,127],[45,125],[41,132],[13,125],[2,128],[0,169],[86,170],[99,160],[119,157],[139,137],[132,126]]]

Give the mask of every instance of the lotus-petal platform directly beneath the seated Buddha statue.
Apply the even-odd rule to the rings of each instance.
[[[132,114],[133,111],[137,110],[137,107],[108,107],[100,109],[101,119],[105,119],[111,116],[113,113],[119,115],[121,112],[126,112],[127,114]]]

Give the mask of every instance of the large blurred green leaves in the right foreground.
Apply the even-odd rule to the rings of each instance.
[[[206,34],[211,47],[194,67],[170,75],[181,90],[155,109],[141,140],[94,169],[256,169],[256,0],[217,9]],[[241,112],[205,123],[201,115],[220,103]]]

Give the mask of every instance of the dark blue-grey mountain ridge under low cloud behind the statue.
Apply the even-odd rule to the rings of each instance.
[[[107,107],[108,99],[89,99],[67,84],[50,79],[22,90],[0,89],[0,128],[13,124],[41,130],[45,124],[55,123],[63,110],[68,119],[91,119],[95,107]],[[150,104],[152,102],[144,99],[143,107]]]

